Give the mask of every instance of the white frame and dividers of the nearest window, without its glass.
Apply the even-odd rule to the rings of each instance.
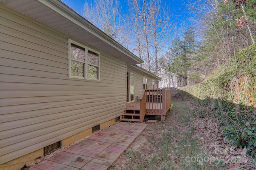
[[[76,60],[76,59],[71,59],[71,51],[70,51],[70,48],[71,48],[71,43],[72,44],[75,44],[75,45],[78,45],[80,47],[83,47],[85,49],[85,62],[84,61],[80,61],[80,60]],[[94,65],[94,64],[89,64],[88,63],[88,52],[89,51],[92,51],[94,53],[97,53],[98,54],[98,57],[99,57],[99,65]],[[79,77],[79,76],[71,76],[71,60],[73,61],[78,61],[80,63],[84,63],[85,64],[85,67],[84,67],[84,77]],[[88,77],[88,68],[89,68],[89,65],[92,65],[92,66],[96,66],[98,67],[98,78],[89,78]],[[89,47],[86,47],[85,45],[82,45],[76,41],[73,41],[71,39],[68,39],[68,77],[69,78],[78,78],[78,79],[84,79],[84,80],[100,80],[100,53],[94,49],[90,49]]]

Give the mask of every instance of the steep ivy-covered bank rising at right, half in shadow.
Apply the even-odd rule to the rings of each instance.
[[[256,44],[222,64],[204,82],[182,90],[207,103],[234,145],[256,154]]]

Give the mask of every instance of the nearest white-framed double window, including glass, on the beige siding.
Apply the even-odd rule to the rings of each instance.
[[[68,43],[69,77],[99,80],[100,53],[72,40]]]

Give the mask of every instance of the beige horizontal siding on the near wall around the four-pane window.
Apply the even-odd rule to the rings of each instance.
[[[124,113],[125,63],[99,51],[100,81],[68,78],[70,37],[0,10],[0,164]]]

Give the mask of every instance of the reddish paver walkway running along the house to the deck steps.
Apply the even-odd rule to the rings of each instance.
[[[147,125],[119,122],[32,166],[30,170],[107,170]]]

